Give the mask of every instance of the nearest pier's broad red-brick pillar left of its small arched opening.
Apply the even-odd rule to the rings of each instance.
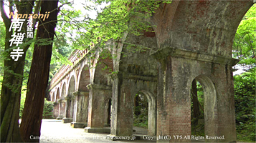
[[[157,142],[190,142],[190,139],[184,139],[191,135],[189,67],[176,65],[170,56],[159,61]]]

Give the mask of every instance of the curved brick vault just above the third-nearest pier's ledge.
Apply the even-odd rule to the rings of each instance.
[[[93,78],[93,84],[110,85],[111,80],[108,77],[113,71],[113,59],[112,54],[108,49],[100,52],[97,64],[95,65],[95,72]]]

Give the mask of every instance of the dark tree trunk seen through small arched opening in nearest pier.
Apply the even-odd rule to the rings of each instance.
[[[196,87],[196,79],[192,82],[192,102],[193,102],[193,111],[194,111],[194,117],[197,118],[200,115],[199,110],[199,102],[197,99],[197,87]]]

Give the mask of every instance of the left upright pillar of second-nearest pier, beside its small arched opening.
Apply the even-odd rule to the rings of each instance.
[[[133,99],[131,99],[131,88],[123,79],[123,74],[118,72],[112,74],[113,94],[111,112],[110,136],[133,135]],[[134,93],[136,94],[136,93]]]

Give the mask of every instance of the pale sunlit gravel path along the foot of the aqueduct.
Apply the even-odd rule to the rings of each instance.
[[[145,133],[145,129],[136,128],[140,133]],[[107,139],[108,134],[85,133],[84,129],[75,129],[70,124],[63,124],[56,119],[43,119],[41,127],[40,143],[57,142],[148,142],[147,140],[136,141],[112,141]],[[152,141],[151,141],[152,142]],[[153,141],[156,142],[156,141]]]

